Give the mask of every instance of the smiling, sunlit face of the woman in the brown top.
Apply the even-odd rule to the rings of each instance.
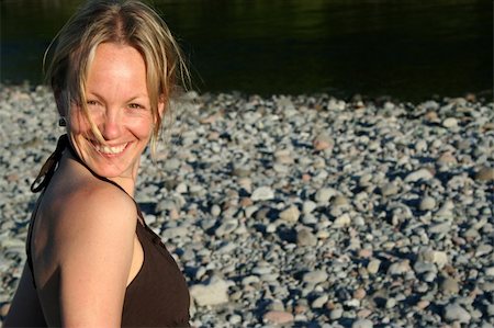
[[[153,131],[146,65],[139,52],[128,45],[99,45],[89,68],[86,98],[108,146],[98,142],[81,109],[72,105],[68,128],[77,154],[99,176],[135,178]]]

